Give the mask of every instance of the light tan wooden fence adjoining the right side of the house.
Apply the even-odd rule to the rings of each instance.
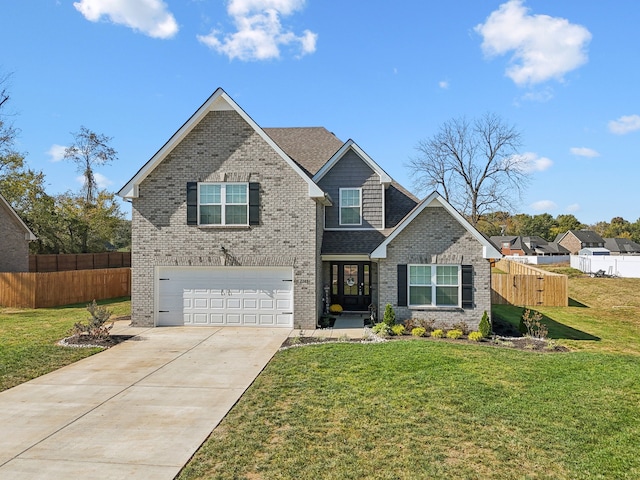
[[[491,274],[491,303],[501,305],[566,307],[567,276],[509,260],[499,260]]]

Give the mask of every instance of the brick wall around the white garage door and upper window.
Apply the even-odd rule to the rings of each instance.
[[[260,183],[260,225],[186,224],[186,184]],[[319,240],[307,183],[235,111],[210,112],[140,184],[132,213],[132,321],[153,325],[157,266],[292,266],[294,324],[315,328]]]

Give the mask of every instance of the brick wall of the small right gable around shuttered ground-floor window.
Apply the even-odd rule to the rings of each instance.
[[[398,264],[440,263],[473,265],[473,303],[470,309],[398,306]],[[482,245],[442,207],[427,207],[388,246],[387,258],[379,262],[378,312],[390,303],[396,320],[433,319],[451,326],[463,321],[477,329],[482,314],[491,313],[491,267],[482,258]]]

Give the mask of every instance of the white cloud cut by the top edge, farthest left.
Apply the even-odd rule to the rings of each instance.
[[[162,0],[80,0],[73,6],[84,18],[97,22],[103,16],[153,38],[171,38],[178,24]]]

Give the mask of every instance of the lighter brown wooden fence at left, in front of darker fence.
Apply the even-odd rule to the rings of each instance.
[[[131,269],[0,273],[0,306],[45,308],[131,295]]]

